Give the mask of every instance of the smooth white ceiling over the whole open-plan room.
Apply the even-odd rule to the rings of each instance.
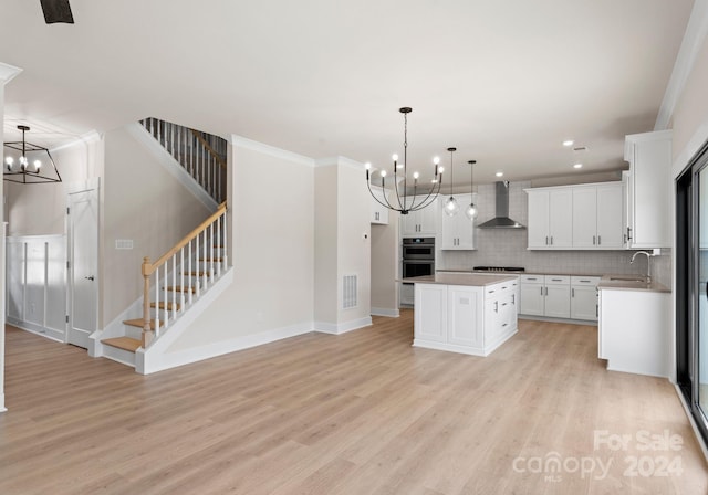
[[[652,130],[693,0],[2,0],[6,140],[53,147],[146,116],[313,158],[428,167],[456,181],[623,168]],[[563,148],[572,138],[582,157]],[[459,165],[459,168],[458,168]]]

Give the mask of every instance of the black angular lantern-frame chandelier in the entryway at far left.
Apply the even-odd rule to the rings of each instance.
[[[22,131],[22,140],[4,144],[2,180],[18,183],[61,182],[62,178],[49,149],[24,140],[24,133],[30,130],[28,126],[18,126],[18,129]]]

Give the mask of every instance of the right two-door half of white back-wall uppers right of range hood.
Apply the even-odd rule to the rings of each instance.
[[[622,182],[572,187],[573,247],[622,249]]]

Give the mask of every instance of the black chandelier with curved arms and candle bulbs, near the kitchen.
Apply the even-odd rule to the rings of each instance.
[[[404,106],[398,112],[404,117],[404,133],[403,133],[403,164],[398,162],[398,155],[393,156],[394,160],[394,186],[392,192],[395,192],[396,198],[388,200],[385,193],[386,189],[386,170],[378,171],[381,177],[382,188],[384,189],[383,201],[379,200],[372,191],[372,177],[374,172],[371,171],[372,165],[366,164],[366,185],[368,186],[368,192],[372,197],[384,208],[398,211],[400,214],[408,214],[412,211],[421,210],[435,202],[435,199],[440,192],[440,186],[442,185],[442,167],[438,167],[440,159],[435,157],[433,165],[435,166],[435,176],[430,181],[430,186],[420,188],[418,185],[418,178],[420,173],[415,171],[413,173],[413,193],[408,194],[408,114],[413,112],[413,108]],[[399,172],[400,170],[400,172]],[[399,183],[402,187],[399,188]]]

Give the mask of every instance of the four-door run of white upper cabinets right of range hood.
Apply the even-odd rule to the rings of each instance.
[[[623,247],[622,182],[525,189],[530,250]]]

